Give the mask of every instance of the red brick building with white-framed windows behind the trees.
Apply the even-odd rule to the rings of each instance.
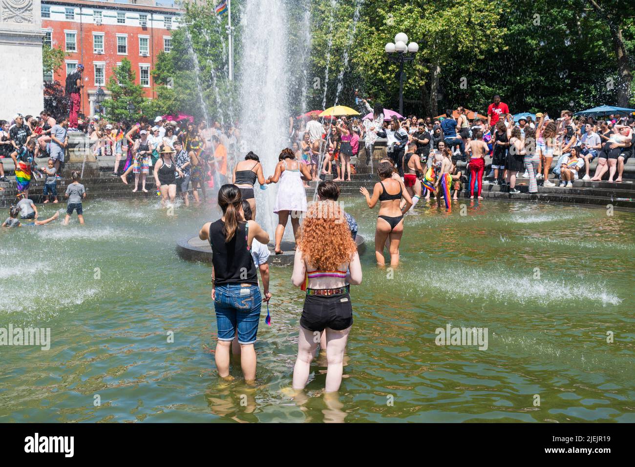
[[[125,0],[121,0],[125,1]],[[89,1],[42,0],[44,41],[67,52],[62,69],[45,70],[44,80],[64,84],[77,63],[84,65],[82,113],[95,113],[95,91],[105,84],[123,58],[130,60],[137,83],[146,97],[156,97],[150,70],[161,51],[169,52],[171,32],[182,11],[154,0]]]

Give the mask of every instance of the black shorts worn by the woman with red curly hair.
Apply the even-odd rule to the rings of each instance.
[[[343,331],[353,324],[351,294],[307,295],[302,308],[300,326],[309,331]]]

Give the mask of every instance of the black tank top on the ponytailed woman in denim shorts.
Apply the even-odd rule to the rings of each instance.
[[[214,265],[214,285],[252,284],[258,285],[256,265],[248,249],[246,222],[239,222],[236,233],[225,243],[222,219],[210,224],[211,262]]]

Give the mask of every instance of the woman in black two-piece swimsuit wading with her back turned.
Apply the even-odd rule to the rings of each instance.
[[[412,206],[412,199],[408,192],[401,188],[401,183],[392,178],[392,165],[387,162],[379,164],[377,175],[380,182],[375,183],[373,197],[370,197],[366,188],[359,188],[359,192],[366,197],[368,207],[373,209],[377,201],[380,201],[379,215],[377,216],[377,230],[375,230],[375,258],[377,265],[384,266],[384,244],[390,239],[391,266],[399,264],[399,242],[403,234],[403,214]],[[401,197],[406,204],[399,209]]]

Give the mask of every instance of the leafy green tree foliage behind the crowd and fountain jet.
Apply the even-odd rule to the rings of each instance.
[[[232,2],[236,70],[241,69],[239,6],[240,0]],[[152,115],[180,111],[202,119],[207,112],[210,120],[236,119],[241,103],[236,81],[227,79],[227,15],[218,17],[212,7],[213,2],[185,6],[185,27],[173,32],[171,52],[161,53],[152,70],[159,84],[157,99],[145,104]],[[402,31],[419,44],[415,60],[405,67],[405,114],[434,116],[457,105],[485,113],[493,94],[514,113],[556,114],[620,100],[632,107],[634,10],[617,0],[286,0],[291,107],[299,114],[305,95],[305,110],[322,108],[328,65],[326,107],[335,102],[343,72],[339,104],[353,107],[353,91],[359,88],[362,96],[397,109],[398,65],[389,62],[384,46]],[[306,11],[311,55],[302,63],[298,44]]]

